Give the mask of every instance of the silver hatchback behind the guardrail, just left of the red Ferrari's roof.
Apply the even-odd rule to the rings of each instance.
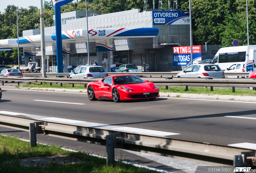
[[[79,66],[69,78],[104,78],[108,73],[102,66]]]

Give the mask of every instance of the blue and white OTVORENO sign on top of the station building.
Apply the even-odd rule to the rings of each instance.
[[[153,11],[153,25],[190,24],[187,11]]]

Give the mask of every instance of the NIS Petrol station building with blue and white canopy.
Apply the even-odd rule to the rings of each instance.
[[[190,18],[185,11],[146,11],[132,9],[111,14],[88,11],[89,45],[85,11],[61,14],[63,71],[68,66],[97,62],[110,72],[111,64],[132,63],[142,71],[181,70],[173,66],[173,47],[189,46]],[[55,19],[55,17],[54,17]],[[54,21],[55,23],[55,21]],[[57,71],[55,26],[45,30],[47,71]],[[25,64],[41,66],[40,30],[24,30],[19,46],[24,48]],[[0,47],[17,47],[17,39],[0,40]],[[89,46],[89,62],[87,46]]]

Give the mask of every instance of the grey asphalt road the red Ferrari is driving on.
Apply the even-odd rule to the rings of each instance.
[[[114,103],[107,100],[89,101],[85,93],[28,91],[1,87],[3,96],[0,111],[178,133],[167,136],[173,139],[221,145],[256,144],[254,102],[158,98],[154,101]],[[4,131],[8,130],[1,129],[1,133]],[[59,144],[62,142],[60,140]],[[72,145],[68,144],[67,147]],[[158,166],[170,171],[163,164]]]

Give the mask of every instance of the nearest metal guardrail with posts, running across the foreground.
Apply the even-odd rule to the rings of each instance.
[[[36,146],[36,134],[105,145],[107,147],[107,164],[114,164],[114,148],[195,159],[215,165],[252,166],[252,159],[256,159],[256,150],[38,121],[24,118],[22,115],[14,117],[0,114],[0,126],[29,131],[31,147]]]

